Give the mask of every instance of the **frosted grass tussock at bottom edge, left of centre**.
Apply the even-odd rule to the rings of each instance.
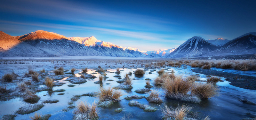
[[[74,111],[74,114],[85,114],[90,120],[96,120],[99,117],[99,113],[97,108],[97,103],[92,103],[92,105],[88,105],[86,102],[78,102],[76,105],[76,109]]]

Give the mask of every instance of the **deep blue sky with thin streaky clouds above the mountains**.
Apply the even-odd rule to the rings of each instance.
[[[250,0],[0,0],[0,31],[36,30],[142,51],[171,49],[193,36],[232,40],[256,32]]]

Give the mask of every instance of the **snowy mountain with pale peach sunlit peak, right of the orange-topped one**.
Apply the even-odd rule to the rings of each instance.
[[[105,56],[115,57],[137,57],[123,50],[122,47],[104,42],[96,39],[94,36],[91,37],[69,37],[70,40],[76,41],[84,46],[90,47],[97,52],[102,53]],[[139,56],[141,57],[141,56]]]

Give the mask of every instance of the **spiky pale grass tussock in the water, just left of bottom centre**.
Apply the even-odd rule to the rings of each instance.
[[[124,94],[119,91],[111,88],[109,86],[108,88],[101,87],[99,95],[97,96],[100,101],[106,101],[106,100],[114,100],[114,101],[119,101],[119,98],[123,96]]]

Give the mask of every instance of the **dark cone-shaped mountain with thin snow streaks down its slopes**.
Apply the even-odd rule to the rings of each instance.
[[[201,56],[214,51],[218,47],[202,37],[194,36],[181,44],[176,50],[167,55],[167,58]]]

